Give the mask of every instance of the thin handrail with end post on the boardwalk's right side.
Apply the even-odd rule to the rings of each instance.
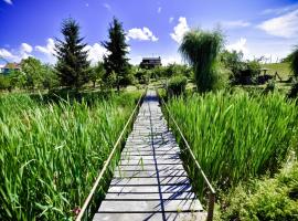
[[[214,211],[214,204],[215,204],[215,190],[214,188],[212,187],[212,185],[210,183],[210,181],[207,180],[203,169],[201,168],[200,164],[198,162],[193,151],[191,150],[190,148],[190,145],[188,143],[188,140],[185,139],[184,135],[182,134],[180,127],[178,126],[175,119],[173,118],[172,114],[170,113],[169,108],[168,108],[168,105],[166,104],[164,99],[162,98],[162,96],[159,95],[158,91],[157,91],[157,94],[158,96],[160,97],[160,101],[161,101],[161,105],[164,107],[166,112],[167,112],[167,122],[168,122],[168,130],[169,130],[169,127],[170,127],[170,120],[173,123],[174,127],[177,128],[179,135],[181,136],[185,147],[187,147],[187,150],[189,151],[190,154],[190,157],[192,158],[192,160],[194,161],[194,165],[196,167],[196,169],[201,172],[202,177],[203,177],[203,180],[204,182],[206,183],[210,192],[209,192],[209,203],[207,203],[207,218],[206,220],[207,221],[212,221],[213,220],[213,211]]]

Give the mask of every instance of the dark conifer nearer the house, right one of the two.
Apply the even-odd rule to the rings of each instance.
[[[106,70],[105,78],[108,78],[113,73],[116,74],[116,85],[119,92],[121,82],[127,78],[128,44],[126,43],[126,34],[123,24],[116,19],[109,24],[108,29],[109,41],[102,42],[103,46],[108,51],[104,56],[104,65]]]

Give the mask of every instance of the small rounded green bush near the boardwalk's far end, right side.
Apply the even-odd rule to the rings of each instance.
[[[168,93],[170,95],[181,95],[185,92],[188,78],[182,75],[172,76],[168,83]]]

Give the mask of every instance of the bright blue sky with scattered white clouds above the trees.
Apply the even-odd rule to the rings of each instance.
[[[0,56],[19,62],[31,55],[54,63],[61,21],[72,17],[96,62],[105,53],[100,42],[114,15],[124,23],[135,64],[151,55],[163,63],[181,62],[179,42],[192,28],[220,27],[226,49],[243,51],[246,59],[276,61],[298,44],[294,0],[0,0]]]

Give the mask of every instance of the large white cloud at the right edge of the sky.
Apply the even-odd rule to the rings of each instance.
[[[275,36],[298,36],[298,10],[264,21],[257,28]]]

